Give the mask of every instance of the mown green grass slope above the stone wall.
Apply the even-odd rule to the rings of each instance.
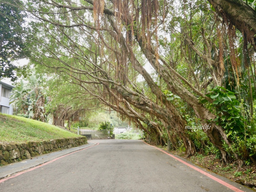
[[[0,141],[24,143],[59,138],[79,137],[54,125],[0,113]]]

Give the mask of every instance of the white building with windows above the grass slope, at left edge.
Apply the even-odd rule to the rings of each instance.
[[[0,113],[13,114],[13,108],[10,103],[10,92],[14,86],[9,83],[0,81]]]

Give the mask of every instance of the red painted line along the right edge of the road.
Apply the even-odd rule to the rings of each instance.
[[[143,141],[143,142],[144,142],[144,141]],[[144,143],[146,143],[146,142],[144,142]],[[146,144],[148,144],[148,143],[146,143]],[[240,189],[234,187],[233,185],[230,185],[230,184],[226,183],[225,181],[222,181],[221,179],[218,179],[217,177],[215,177],[215,176],[213,176],[213,175],[211,175],[211,174],[209,174],[209,173],[206,173],[205,171],[203,171],[203,170],[201,170],[201,169],[199,169],[199,168],[197,168],[197,167],[195,167],[195,166],[193,166],[193,165],[188,164],[187,162],[185,162],[185,161],[179,159],[178,157],[175,157],[175,156],[173,156],[173,155],[167,153],[166,151],[163,151],[163,150],[161,150],[161,149],[159,149],[159,148],[157,148],[157,147],[155,147],[155,146],[153,146],[153,145],[150,145],[150,144],[148,144],[148,145],[151,146],[151,147],[154,147],[154,148],[158,149],[159,151],[161,151],[161,152],[163,152],[163,153],[165,153],[165,154],[167,154],[167,155],[169,155],[169,156],[171,156],[171,157],[173,157],[174,159],[177,159],[179,162],[181,162],[181,163],[183,163],[183,164],[185,164],[185,165],[191,167],[192,169],[195,169],[196,171],[198,171],[198,172],[200,172],[200,173],[202,173],[202,174],[204,174],[204,175],[210,177],[211,179],[213,179],[213,180],[217,181],[218,183],[220,183],[220,184],[222,184],[222,185],[224,185],[224,186],[226,186],[226,187],[232,189],[233,191],[236,191],[236,192],[244,192],[244,191],[242,191],[242,190],[240,190]],[[0,182],[1,182],[1,181],[0,181]]]

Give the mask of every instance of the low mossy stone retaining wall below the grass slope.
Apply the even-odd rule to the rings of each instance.
[[[87,143],[86,137],[9,144],[0,142],[0,166]]]

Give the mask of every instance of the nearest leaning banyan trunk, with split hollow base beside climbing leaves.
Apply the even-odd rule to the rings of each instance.
[[[211,121],[212,119],[215,119],[216,118],[215,115],[212,114],[208,109],[206,109],[197,100],[197,98],[180,83],[179,81],[180,77],[177,75],[177,72],[174,69],[170,67],[166,69],[161,64],[159,64],[159,62],[157,61],[158,59],[155,56],[154,49],[151,47],[151,45],[148,45],[146,42],[143,42],[142,39],[137,39],[137,40],[145,57],[148,59],[152,67],[156,71],[158,71],[159,75],[161,75],[161,77],[164,79],[167,86],[169,87],[170,90],[172,90],[173,93],[179,95],[180,98],[182,98],[185,102],[187,102],[192,106],[198,118],[201,119],[202,125],[204,125],[205,123],[208,123],[207,121]],[[161,61],[164,63],[165,66],[168,66],[168,64],[165,63],[165,60],[161,59]],[[210,98],[205,97],[205,99],[210,99]],[[231,151],[233,152],[234,156],[239,162],[239,165],[241,166],[242,160],[232,150],[231,143],[228,140],[222,127],[217,126],[214,123],[212,123],[211,125],[212,125],[211,129],[208,129],[207,131],[205,131],[205,133],[207,134],[211,142],[221,151],[223,161],[228,163],[228,160],[227,160],[228,153],[222,147],[223,146],[222,140],[224,140],[229,145],[229,147],[231,148]]]

